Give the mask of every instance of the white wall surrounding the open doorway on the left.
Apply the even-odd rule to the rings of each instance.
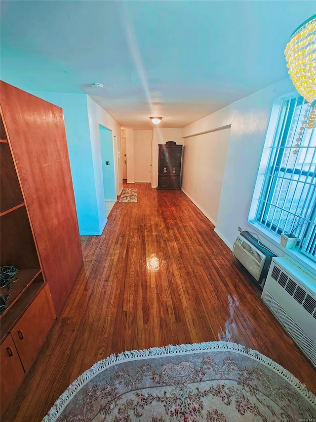
[[[118,151],[121,151],[120,141],[120,126],[116,120],[110,116],[99,104],[93,101],[87,95],[87,110],[88,120],[90,129],[90,140],[92,149],[92,159],[94,168],[94,179],[95,187],[97,192],[97,203],[98,212],[100,216],[100,231],[103,230],[107,218],[105,215],[104,206],[104,191],[103,191],[103,176],[102,176],[102,160],[101,160],[101,147],[100,147],[100,136],[99,136],[99,124],[112,131],[113,137],[116,136],[116,141],[113,139],[113,151],[114,151],[114,165],[116,175],[116,191],[117,195],[122,189],[122,157],[118,158]]]

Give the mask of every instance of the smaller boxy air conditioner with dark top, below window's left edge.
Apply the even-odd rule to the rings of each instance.
[[[266,255],[241,235],[238,235],[235,240],[233,254],[249,273],[259,281]]]

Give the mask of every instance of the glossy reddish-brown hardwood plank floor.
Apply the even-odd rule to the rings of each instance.
[[[316,393],[316,371],[260,291],[182,191],[138,189],[116,203],[101,236],[82,237],[84,264],[61,317],[5,422],[39,422],[96,361],[124,350],[227,340],[258,350]]]

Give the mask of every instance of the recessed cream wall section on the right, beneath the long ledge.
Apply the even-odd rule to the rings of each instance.
[[[230,129],[184,140],[182,190],[216,225]]]

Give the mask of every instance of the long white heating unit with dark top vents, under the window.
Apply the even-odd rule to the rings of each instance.
[[[273,258],[261,298],[316,366],[316,278]]]

